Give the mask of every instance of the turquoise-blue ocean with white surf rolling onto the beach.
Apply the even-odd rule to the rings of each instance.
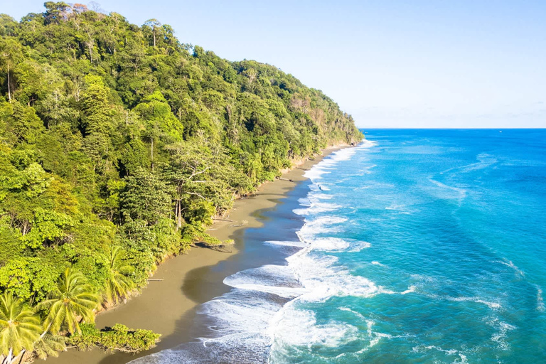
[[[136,363],[546,363],[546,130],[368,130]],[[205,289],[205,287],[203,288]]]

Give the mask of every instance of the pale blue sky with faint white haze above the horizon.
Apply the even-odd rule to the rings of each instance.
[[[111,0],[322,90],[358,127],[546,127],[546,1]],[[20,19],[43,1],[0,0]]]

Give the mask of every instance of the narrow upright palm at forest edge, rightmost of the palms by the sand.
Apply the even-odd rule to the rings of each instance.
[[[133,267],[123,261],[122,247],[112,247],[109,255],[109,277],[107,281],[104,299],[107,302],[117,304],[119,299],[125,299],[132,289],[134,282],[127,277],[133,271]]]

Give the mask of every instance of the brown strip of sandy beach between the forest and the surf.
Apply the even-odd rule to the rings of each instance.
[[[264,183],[254,196],[236,200],[232,210],[225,216],[225,220],[230,221],[216,220],[209,230],[211,235],[220,240],[235,240],[235,244],[229,247],[230,252],[194,247],[188,254],[168,259],[151,277],[162,281],[149,282],[141,294],[127,301],[127,304],[97,315],[98,328],[123,323],[129,328],[146,328],[161,333],[161,341],[156,348],[138,355],[105,353],[98,349],[87,352],[68,350],[60,353],[59,358],[48,358],[48,363],[122,364],[191,341],[193,337],[189,328],[193,324],[197,306],[230,289],[223,284],[223,279],[231,273],[222,269],[219,263],[237,254],[238,247],[244,243],[244,230],[262,225],[262,213],[274,208],[296,183],[304,181],[306,178],[303,175],[307,169],[337,149],[340,148],[326,149],[322,156],[305,161],[284,173],[282,179]]]

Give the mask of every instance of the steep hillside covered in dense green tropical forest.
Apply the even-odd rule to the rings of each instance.
[[[363,138],[321,91],[155,19],[47,2],[1,14],[0,37],[0,330],[19,304],[38,331],[80,332],[85,310],[50,317],[70,279],[83,306],[116,304],[168,255],[217,242],[205,228],[237,196]]]

